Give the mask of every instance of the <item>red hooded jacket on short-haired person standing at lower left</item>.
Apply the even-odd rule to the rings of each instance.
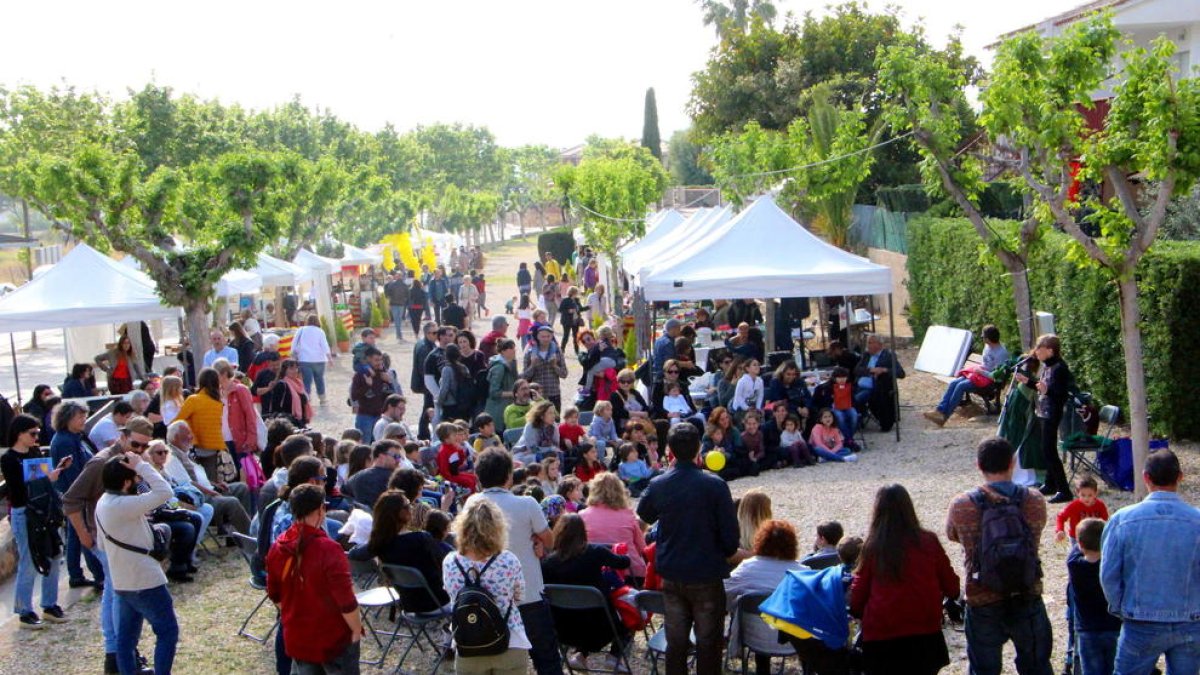
[[[294,522],[280,534],[266,554],[266,595],[280,605],[283,644],[292,658],[325,663],[350,644],[350,627],[342,617],[359,608],[350,565],[323,528]]]

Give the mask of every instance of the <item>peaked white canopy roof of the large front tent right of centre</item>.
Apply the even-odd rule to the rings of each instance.
[[[702,247],[642,277],[647,300],[820,298],[892,292],[892,270],[832,246],[770,197],[709,237]]]

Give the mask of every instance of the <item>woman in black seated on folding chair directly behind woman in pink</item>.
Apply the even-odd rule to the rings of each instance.
[[[592,586],[607,598],[613,589],[612,584],[605,580],[604,568],[629,569],[629,556],[617,555],[607,546],[589,543],[583,518],[566,513],[558,516],[558,522],[554,524],[554,545],[550,555],[541,561],[541,574],[547,584]],[[608,617],[599,610],[553,611],[554,632],[563,641],[576,645],[580,650],[570,657],[572,669],[587,670],[588,653],[600,651],[610,643],[612,643],[612,655],[606,668],[612,669],[617,665],[617,655],[620,653],[620,645],[629,638],[629,633],[612,602],[608,602],[607,611]],[[610,619],[622,632],[619,641],[614,641],[608,631],[598,629],[598,626],[604,626]]]

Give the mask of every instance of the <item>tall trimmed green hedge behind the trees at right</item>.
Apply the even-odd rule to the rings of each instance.
[[[1002,235],[1010,221],[992,221]],[[1068,259],[1069,238],[1048,231],[1030,258],[1036,311],[1055,316],[1063,357],[1080,387],[1128,410],[1116,286],[1099,269]],[[1200,437],[1200,241],[1158,241],[1138,271],[1151,429]],[[1020,347],[1012,280],[965,219],[908,225],[908,322],[920,340],[930,325],[978,333],[995,323],[1009,351]]]

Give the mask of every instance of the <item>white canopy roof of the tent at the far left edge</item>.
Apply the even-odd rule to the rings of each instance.
[[[44,274],[0,299],[10,333],[174,318],[140,271],[79,244]]]

